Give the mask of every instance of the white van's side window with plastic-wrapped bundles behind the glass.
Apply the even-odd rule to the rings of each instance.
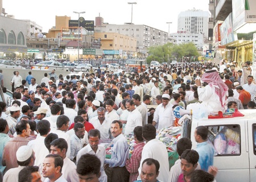
[[[241,154],[241,132],[239,125],[207,126],[208,140],[213,144],[217,156]]]

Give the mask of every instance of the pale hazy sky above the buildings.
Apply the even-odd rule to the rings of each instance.
[[[208,0],[2,0],[5,12],[14,15],[15,19],[30,19],[43,27],[43,32],[55,26],[55,16],[71,16],[78,19],[78,14],[85,20],[94,20],[97,16],[104,18],[104,23],[124,24],[131,22],[131,5],[133,5],[133,23],[144,24],[161,31],[177,32],[177,16],[181,11],[193,8],[208,11]]]

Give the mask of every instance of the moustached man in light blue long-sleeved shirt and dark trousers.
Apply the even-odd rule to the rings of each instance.
[[[129,145],[122,134],[122,122],[114,120],[110,130],[114,137],[112,156],[111,159],[105,159],[104,167],[108,182],[128,182],[130,174],[126,170],[125,163],[129,158]]]

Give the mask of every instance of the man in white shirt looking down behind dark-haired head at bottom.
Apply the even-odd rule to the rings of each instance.
[[[86,145],[84,148],[82,148],[79,153],[77,153],[76,159],[77,162],[84,154],[92,154],[96,155],[98,159],[101,161],[101,177],[99,178],[100,182],[107,181],[107,176],[104,171],[104,160],[106,156],[105,147],[102,145],[98,145],[100,143],[101,139],[101,133],[97,129],[91,129],[88,133],[89,138],[89,145]]]

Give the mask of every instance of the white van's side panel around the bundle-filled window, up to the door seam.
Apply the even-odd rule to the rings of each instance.
[[[247,120],[242,118],[204,120],[198,121],[198,125],[208,127],[211,131],[208,138],[219,153],[213,159],[213,165],[218,168],[216,181],[250,181]],[[220,136],[224,136],[226,140],[221,141]],[[254,158],[256,159],[255,156]],[[252,165],[254,168],[256,163]],[[255,168],[254,173],[256,173]]]

